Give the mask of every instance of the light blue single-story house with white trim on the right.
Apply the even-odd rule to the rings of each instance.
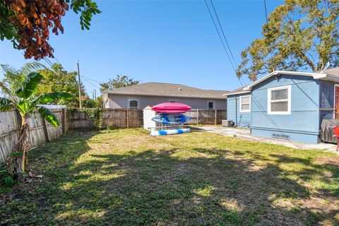
[[[339,118],[339,68],[273,71],[225,95],[227,119],[252,135],[319,143],[321,121]]]

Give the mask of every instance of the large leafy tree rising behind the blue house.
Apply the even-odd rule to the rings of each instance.
[[[338,0],[285,0],[242,52],[237,76],[256,80],[273,70],[322,71],[339,66]]]

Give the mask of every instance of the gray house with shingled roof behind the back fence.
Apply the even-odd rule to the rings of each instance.
[[[135,108],[181,102],[198,109],[226,109],[225,90],[202,90],[180,84],[142,83],[102,92],[105,108]]]

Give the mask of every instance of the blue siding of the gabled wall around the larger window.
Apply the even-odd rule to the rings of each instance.
[[[268,114],[268,88],[291,85],[291,114]],[[259,83],[251,93],[251,128],[254,136],[272,133],[292,141],[316,143],[319,135],[319,81],[306,76],[281,75]],[[275,132],[276,131],[276,132]]]

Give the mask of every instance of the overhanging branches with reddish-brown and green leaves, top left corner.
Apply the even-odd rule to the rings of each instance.
[[[0,1],[0,39],[11,40],[13,47],[25,50],[25,59],[53,57],[49,28],[55,35],[64,33],[61,17],[71,8],[81,13],[81,29],[90,29],[93,14],[101,13],[91,0],[2,0]]]

